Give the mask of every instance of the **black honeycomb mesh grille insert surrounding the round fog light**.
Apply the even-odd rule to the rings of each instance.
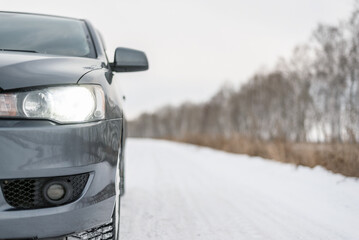
[[[6,202],[17,209],[36,209],[64,205],[76,201],[81,196],[89,174],[78,174],[72,176],[51,177],[51,178],[24,178],[1,180],[0,186]],[[49,202],[44,197],[44,187],[46,184],[56,182],[66,182],[72,187],[71,196],[66,202],[56,204]]]

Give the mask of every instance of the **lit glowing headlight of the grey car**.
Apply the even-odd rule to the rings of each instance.
[[[105,95],[100,86],[49,87],[0,94],[0,116],[77,123],[105,118]]]

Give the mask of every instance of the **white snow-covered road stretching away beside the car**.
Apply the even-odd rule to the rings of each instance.
[[[357,240],[359,180],[245,155],[129,139],[122,240]]]

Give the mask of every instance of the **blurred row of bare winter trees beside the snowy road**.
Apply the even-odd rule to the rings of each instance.
[[[209,101],[166,106],[129,123],[134,137],[246,136],[291,142],[359,141],[359,8],[319,24],[288,59]]]

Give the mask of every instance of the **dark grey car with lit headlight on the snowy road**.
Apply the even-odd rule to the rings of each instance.
[[[0,239],[118,239],[126,118],[115,72],[87,20],[0,12]]]

